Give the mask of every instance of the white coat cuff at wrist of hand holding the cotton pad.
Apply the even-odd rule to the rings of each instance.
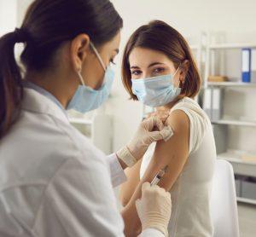
[[[117,187],[119,184],[125,182],[127,177],[125,176],[125,172],[115,153],[108,155],[107,162],[110,170],[112,186]]]

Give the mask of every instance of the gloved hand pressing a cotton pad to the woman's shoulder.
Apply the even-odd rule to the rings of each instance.
[[[137,160],[143,158],[144,153],[146,153],[148,146],[152,142],[167,141],[172,135],[172,129],[169,126],[165,126],[161,119],[155,116],[144,119],[131,142],[116,154],[127,166],[131,167],[137,163]]]

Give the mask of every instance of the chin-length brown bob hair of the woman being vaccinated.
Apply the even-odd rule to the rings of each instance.
[[[184,96],[193,98],[197,95],[200,90],[201,78],[189,49],[189,44],[172,26],[161,20],[153,20],[148,25],[137,28],[125,46],[122,61],[122,80],[125,90],[131,95],[132,100],[137,101],[137,95],[134,95],[131,90],[129,56],[131,50],[137,47],[160,51],[173,62],[176,69],[183,61],[189,61],[189,71],[186,73],[181,94],[177,96],[177,100]]]

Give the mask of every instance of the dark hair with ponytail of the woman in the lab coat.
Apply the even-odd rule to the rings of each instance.
[[[15,43],[24,43],[20,59],[26,71],[55,66],[61,44],[82,33],[101,46],[119,32],[123,20],[108,0],[35,0],[20,29],[0,38],[0,139],[20,113],[23,96]]]

